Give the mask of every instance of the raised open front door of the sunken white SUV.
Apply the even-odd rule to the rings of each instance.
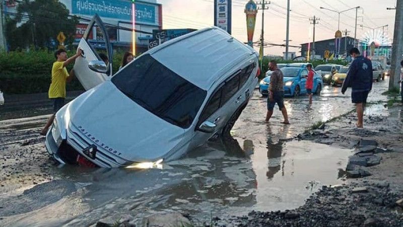
[[[102,33],[102,37],[98,36],[97,29]],[[101,34],[99,34],[101,35]],[[90,37],[94,39],[102,39],[105,43],[106,53],[109,63],[104,64],[100,56],[90,43]],[[99,40],[94,40],[99,41]],[[83,58],[77,58],[74,64],[74,72],[85,90],[89,90],[98,84],[104,82],[108,77],[112,76],[112,49],[109,42],[109,36],[106,32],[104,24],[98,14],[95,14],[91,22],[88,24],[87,30],[80,40],[79,48],[83,50]]]

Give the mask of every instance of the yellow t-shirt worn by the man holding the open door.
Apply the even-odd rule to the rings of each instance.
[[[52,82],[49,87],[49,98],[66,97],[66,79],[69,77],[64,62],[55,62],[52,67]]]

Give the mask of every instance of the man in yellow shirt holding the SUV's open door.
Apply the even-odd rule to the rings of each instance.
[[[56,62],[52,67],[52,82],[49,87],[49,98],[53,101],[53,115],[47,121],[45,127],[40,132],[41,135],[46,135],[49,127],[52,125],[54,115],[63,107],[64,100],[66,98],[66,82],[70,82],[74,78],[74,71],[70,71],[70,74],[65,68],[69,64],[73,63],[81,54],[82,50],[79,48],[74,56],[67,58],[67,52],[64,49],[58,49],[54,53]]]

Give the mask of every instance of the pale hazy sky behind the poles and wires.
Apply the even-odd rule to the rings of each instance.
[[[245,4],[248,0],[232,0],[232,35],[242,42],[247,41]],[[256,3],[261,1],[255,1]],[[266,1],[269,2],[269,1]],[[285,44],[287,0],[270,1],[268,10],[264,11],[264,41]],[[163,29],[195,28],[200,29],[214,25],[214,0],[157,0],[162,4]],[[310,24],[313,16],[319,18],[315,27],[315,41],[334,38],[338,30],[338,13],[321,10],[324,7],[334,11],[344,11],[360,6],[357,20],[357,38],[375,34],[382,34],[384,26],[385,38],[391,42],[394,30],[396,0],[290,0],[290,45],[300,46],[301,43],[312,41],[313,25]],[[253,41],[257,41],[261,34],[262,11],[256,16],[256,25]],[[355,9],[340,14],[340,30],[350,31],[354,37]],[[360,26],[363,25],[364,27]],[[388,26],[385,26],[388,25]],[[258,47],[255,47],[258,50]],[[283,55],[286,47],[266,46],[264,55]],[[300,48],[290,47],[290,52],[298,52]]]

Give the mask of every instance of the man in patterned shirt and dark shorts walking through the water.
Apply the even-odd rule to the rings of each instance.
[[[284,122],[282,123],[290,124],[288,121],[287,109],[284,106],[283,72],[277,68],[277,63],[274,60],[268,63],[268,69],[273,71],[273,73],[270,78],[270,85],[268,86],[266,122],[270,121],[270,118],[273,115],[274,106],[277,103],[283,113]]]

